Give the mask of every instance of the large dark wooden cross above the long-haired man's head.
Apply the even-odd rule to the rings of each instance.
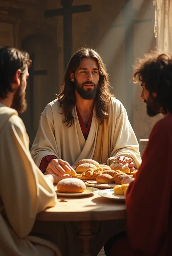
[[[44,12],[45,17],[63,16],[64,69],[66,69],[72,52],[72,14],[91,11],[89,4],[72,6],[72,3],[73,0],[61,0],[63,8]]]

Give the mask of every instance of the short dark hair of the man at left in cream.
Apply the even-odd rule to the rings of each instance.
[[[14,92],[11,84],[18,69],[21,69],[22,79],[26,65],[30,66],[31,60],[27,52],[5,46],[0,48],[0,98],[7,98],[8,92]]]

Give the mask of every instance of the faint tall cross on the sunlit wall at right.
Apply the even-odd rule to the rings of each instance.
[[[132,1],[126,0],[127,4],[127,15],[126,15],[126,6],[122,9],[123,23],[113,24],[112,28],[124,27],[125,30],[125,78],[126,78],[126,95],[127,95],[127,111],[131,108],[133,102],[133,86],[130,83],[132,77],[132,65],[134,64],[134,25],[136,23],[148,23],[152,22],[152,19],[141,19],[135,20],[137,13],[136,9],[132,8]],[[128,112],[128,118],[133,124],[133,108],[131,112]]]

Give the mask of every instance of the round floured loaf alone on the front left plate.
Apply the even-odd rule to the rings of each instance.
[[[60,193],[81,193],[85,189],[85,183],[76,178],[62,179],[57,184],[57,190]]]

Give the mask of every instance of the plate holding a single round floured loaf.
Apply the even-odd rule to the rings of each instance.
[[[66,178],[58,182],[56,194],[58,196],[75,197],[90,195],[96,191],[98,191],[98,188],[86,187],[83,180],[77,178]]]

